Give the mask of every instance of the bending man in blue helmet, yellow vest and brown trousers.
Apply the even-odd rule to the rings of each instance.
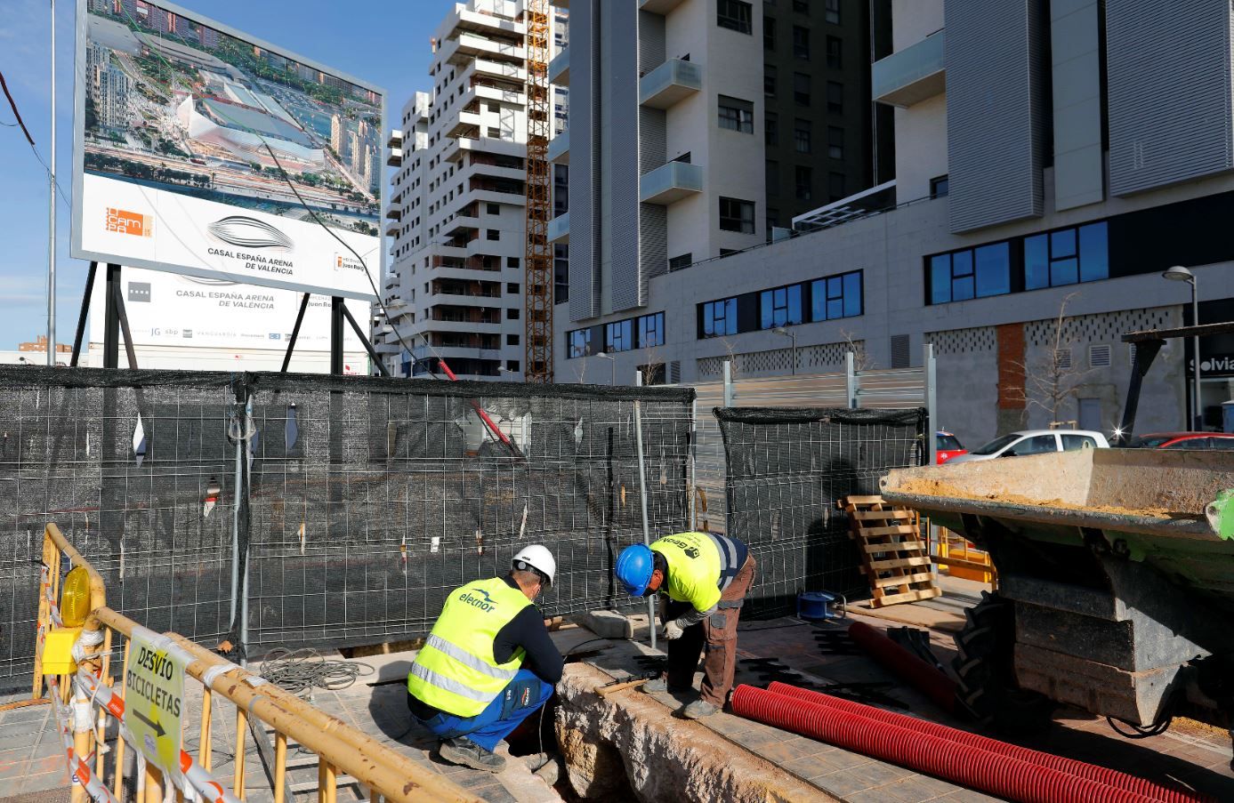
[[[617,580],[634,597],[656,591],[668,640],[666,678],[648,682],[648,692],[687,691],[694,686],[698,653],[705,651],[702,699],[686,706],[690,719],[724,707],[737,665],[737,620],[754,582],[754,556],[742,542],[714,533],[677,533],[634,544],[617,556]]]

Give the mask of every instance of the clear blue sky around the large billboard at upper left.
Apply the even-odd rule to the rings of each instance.
[[[84,2],[85,0],[80,0]],[[51,153],[48,0],[4,0],[0,72],[46,160]],[[450,0],[181,0],[180,5],[273,44],[349,73],[389,93],[395,118],[412,91],[427,89],[428,39]],[[57,180],[73,186],[74,0],[56,4]],[[47,173],[0,96],[0,350],[47,332]],[[69,259],[72,215],[57,208],[57,340],[73,342],[88,263]]]

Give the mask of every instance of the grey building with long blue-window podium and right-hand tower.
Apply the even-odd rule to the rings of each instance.
[[[598,350],[619,381],[663,365],[653,376],[692,382],[726,359],[744,376],[838,371],[850,343],[874,366],[912,366],[933,343],[939,423],[967,445],[1049,424],[1033,398],[1055,360],[1059,419],[1111,432],[1130,371],[1120,336],[1190,321],[1166,268],[1197,276],[1201,322],[1234,319],[1232,22],[1224,0],[1169,15],[1148,0],[896,0],[893,52],[871,76],[895,109],[901,206],[829,205],[811,217],[843,222],[650,278],[639,310],[580,321],[571,303],[559,381],[603,381]],[[648,317],[663,322],[654,345],[595,347]],[[1139,432],[1186,424],[1188,350],[1157,358]],[[1212,423],[1234,344],[1201,352]]]

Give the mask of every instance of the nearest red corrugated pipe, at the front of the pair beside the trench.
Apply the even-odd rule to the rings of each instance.
[[[1156,803],[1153,798],[919,730],[737,687],[733,713],[1021,803]]]

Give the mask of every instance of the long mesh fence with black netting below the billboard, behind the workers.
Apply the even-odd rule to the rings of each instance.
[[[104,574],[112,607],[200,643],[238,635],[234,566],[238,582],[247,575],[251,654],[422,634],[449,590],[503,572],[527,543],[558,560],[545,614],[627,604],[612,562],[642,540],[633,405],[648,516],[663,533],[687,525],[692,398],[663,387],[5,371],[0,685],[32,670],[47,521]]]

